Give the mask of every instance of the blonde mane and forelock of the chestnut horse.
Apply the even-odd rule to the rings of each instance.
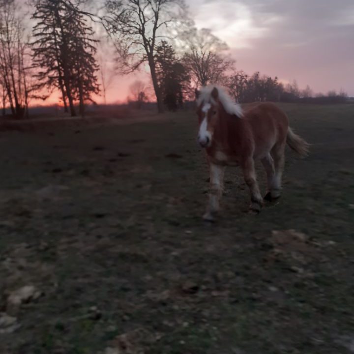
[[[200,96],[197,99],[197,105],[200,106],[203,102],[207,103],[209,101],[211,101],[213,104],[216,104],[214,99],[211,97],[211,91],[214,88],[218,89],[219,91],[219,101],[224,106],[225,111],[232,116],[242,117],[243,112],[241,106],[234,102],[227,91],[221,86],[208,85],[203,87],[200,91]]]

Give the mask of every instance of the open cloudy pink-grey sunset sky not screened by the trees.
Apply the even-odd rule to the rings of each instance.
[[[238,70],[278,76],[284,83],[295,79],[300,89],[309,85],[314,92],[335,89],[354,96],[354,0],[190,0],[187,4],[198,29],[209,28],[228,43]],[[106,50],[104,57],[113,58]],[[107,101],[124,101],[137,79],[148,82],[146,70],[117,75]]]

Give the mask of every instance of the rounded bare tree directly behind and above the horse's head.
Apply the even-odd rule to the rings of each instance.
[[[192,29],[184,34],[185,66],[191,73],[196,88],[209,83],[222,83],[225,74],[234,68],[235,60],[225,55],[228,46],[210,29]]]

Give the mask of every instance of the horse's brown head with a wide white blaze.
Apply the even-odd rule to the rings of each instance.
[[[211,91],[210,98],[199,103],[197,110],[199,120],[198,142],[202,148],[212,145],[213,135],[219,119],[219,91],[215,87]]]

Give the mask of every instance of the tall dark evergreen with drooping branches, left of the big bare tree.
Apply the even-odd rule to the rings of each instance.
[[[65,110],[76,116],[75,102],[84,102],[98,93],[93,46],[93,31],[87,25],[79,2],[71,0],[35,0],[32,18],[34,41],[33,64],[40,68],[36,77],[49,88],[60,89]]]

